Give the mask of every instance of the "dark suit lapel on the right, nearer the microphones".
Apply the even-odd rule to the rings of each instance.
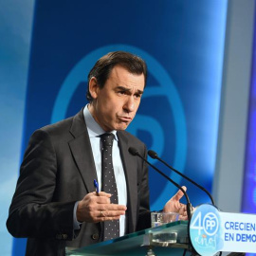
[[[121,132],[118,132],[119,149],[123,169],[125,172],[127,192],[128,192],[128,231],[134,232],[136,229],[137,220],[137,161],[136,157],[128,152],[128,139]]]

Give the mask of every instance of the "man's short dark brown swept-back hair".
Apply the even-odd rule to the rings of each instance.
[[[93,98],[89,91],[89,82],[95,77],[97,79],[98,85],[102,88],[109,78],[109,75],[116,65],[121,65],[127,71],[132,74],[144,75],[145,86],[147,81],[147,65],[146,63],[137,55],[134,55],[125,51],[113,51],[104,55],[97,61],[93,66],[90,73],[88,74],[88,87],[86,98],[89,102],[93,101]]]

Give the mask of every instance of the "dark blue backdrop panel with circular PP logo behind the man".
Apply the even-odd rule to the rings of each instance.
[[[227,1],[37,1],[30,52],[23,152],[32,132],[86,103],[86,76],[105,53],[145,59],[149,80],[129,131],[211,191]],[[209,202],[188,187],[193,205]],[[151,206],[176,189],[150,170]],[[15,240],[13,255],[23,255]]]

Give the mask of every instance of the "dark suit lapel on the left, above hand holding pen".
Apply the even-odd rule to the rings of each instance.
[[[82,110],[74,117],[70,133],[74,136],[69,142],[70,150],[82,175],[84,186],[87,192],[94,192],[93,180],[97,179],[97,173]]]

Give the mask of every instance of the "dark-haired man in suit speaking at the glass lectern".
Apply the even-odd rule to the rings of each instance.
[[[146,157],[147,150],[124,131],[136,115],[146,78],[146,64],[137,56],[108,53],[88,75],[89,104],[32,135],[7,221],[13,236],[28,238],[27,255],[64,255],[64,247],[85,247],[150,228],[147,165],[128,152],[135,147]],[[111,164],[117,194],[103,187],[101,137],[106,133],[114,137]],[[182,195],[177,192],[164,211],[186,215],[179,203]],[[107,223],[115,224],[118,233],[108,237]]]

